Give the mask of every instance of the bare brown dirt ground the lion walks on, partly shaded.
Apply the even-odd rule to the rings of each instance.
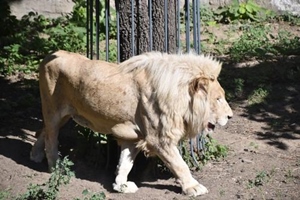
[[[299,199],[300,82],[282,80],[277,76],[282,73],[276,71],[282,66],[300,66],[299,60],[289,57],[272,63],[255,62],[251,66],[225,66],[221,83],[239,76],[247,80],[247,76],[263,73],[262,68],[268,66],[274,68],[271,76],[275,81],[266,103],[252,107],[246,98],[230,102],[234,117],[226,127],[217,127],[212,135],[229,147],[229,155],[192,172],[208,188],[208,194],[196,198],[184,196],[172,177],[140,176],[143,167],[130,175],[140,188],[137,193],[115,193],[112,190],[115,166],[99,169],[84,160],[75,160],[76,178],[61,189],[59,199],[83,199],[85,189],[104,192],[106,199],[127,200]],[[46,162],[37,164],[29,159],[35,131],[42,126],[37,83],[32,76],[0,77],[0,192],[7,190],[10,196],[6,199],[24,193],[29,183],[41,184],[49,178]],[[229,88],[230,83],[223,87]]]

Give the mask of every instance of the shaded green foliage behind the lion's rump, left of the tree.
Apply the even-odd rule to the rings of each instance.
[[[10,15],[7,4],[0,5],[0,74],[30,73],[37,71],[41,59],[48,53],[63,49],[86,51],[86,1],[76,0],[70,15],[56,19],[29,12],[17,20]],[[105,40],[105,0],[99,2],[100,40]],[[110,9],[109,39],[116,38],[116,11]],[[95,21],[95,20],[94,20]],[[94,22],[93,30],[96,30]],[[96,34],[94,32],[94,41]],[[116,61],[116,43],[110,46],[110,61]],[[104,52],[104,51],[103,51]],[[103,54],[101,52],[101,54]]]

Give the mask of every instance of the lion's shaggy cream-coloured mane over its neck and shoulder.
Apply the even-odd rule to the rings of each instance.
[[[209,114],[209,97],[190,94],[189,87],[197,78],[217,79],[220,62],[195,53],[151,52],[124,61],[120,68],[134,77],[144,72],[147,86],[141,87],[152,88],[150,99],[160,110],[162,130],[158,131],[158,138],[168,138],[167,143],[178,142],[184,136],[194,137],[203,130],[203,122]]]

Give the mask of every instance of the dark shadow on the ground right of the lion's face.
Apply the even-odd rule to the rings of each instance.
[[[282,150],[288,146],[281,139],[300,140],[300,56],[227,63],[220,79],[231,102],[245,105],[244,117],[265,124],[259,140]]]

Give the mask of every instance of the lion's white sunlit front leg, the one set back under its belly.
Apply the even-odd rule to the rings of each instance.
[[[132,169],[133,162],[139,150],[134,143],[121,144],[121,155],[116,170],[116,179],[113,189],[122,193],[135,193],[138,187],[134,182],[127,181],[128,174]]]

